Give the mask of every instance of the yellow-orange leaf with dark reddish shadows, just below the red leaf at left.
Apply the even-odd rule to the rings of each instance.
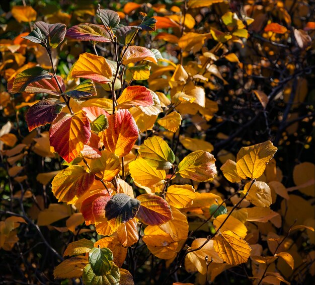
[[[93,173],[88,173],[82,166],[72,165],[54,177],[52,192],[59,202],[71,203],[88,191],[93,182]]]

